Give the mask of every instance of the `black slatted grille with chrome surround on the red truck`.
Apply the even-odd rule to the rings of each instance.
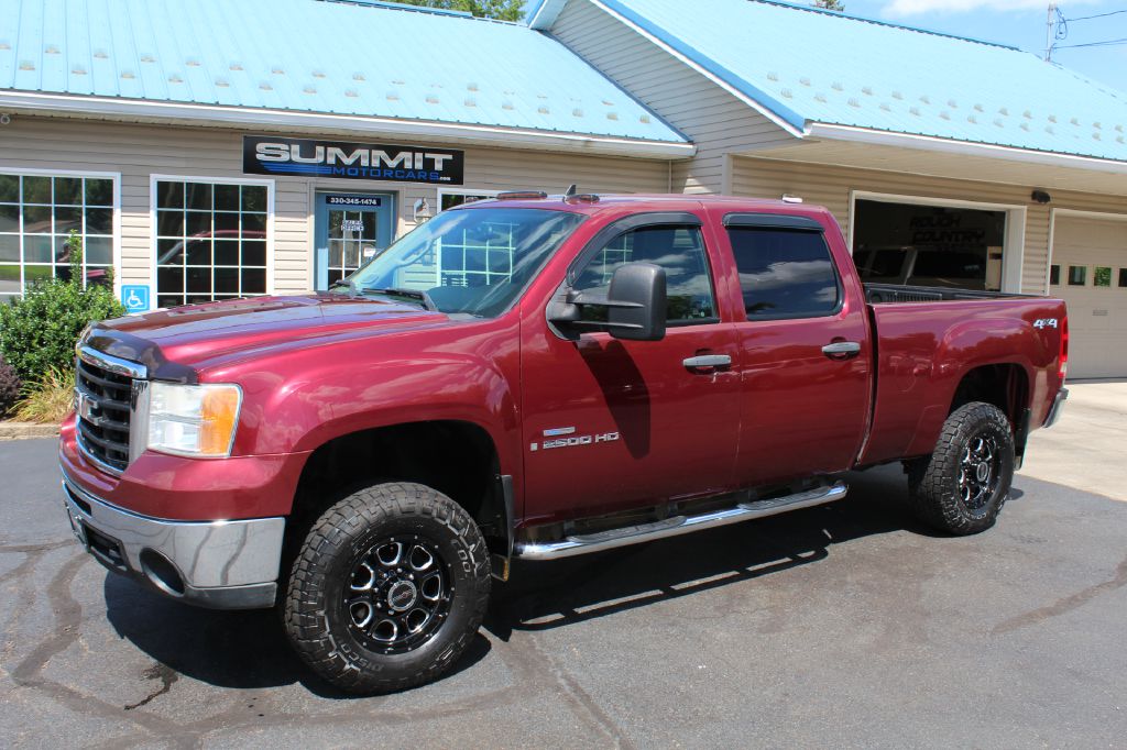
[[[74,411],[79,448],[104,468],[122,472],[130,463],[133,377],[100,356],[79,352]]]

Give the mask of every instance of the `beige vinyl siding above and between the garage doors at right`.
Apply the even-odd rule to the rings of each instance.
[[[806,203],[826,206],[849,238],[850,196],[853,191],[885,193],[923,198],[946,198],[1024,206],[1026,239],[1021,291],[1044,294],[1048,278],[1049,207],[1083,208],[1127,214],[1127,198],[1053,190],[1053,203],[1030,202],[1028,187],[921,175],[831,167],[806,162],[735,157],[733,193],[756,198],[780,198],[784,193]]]

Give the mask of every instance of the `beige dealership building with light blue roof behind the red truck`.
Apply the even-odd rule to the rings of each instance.
[[[141,311],[327,288],[500,190],[786,196],[868,279],[1065,298],[1070,374],[1127,375],[1127,95],[1026,52],[764,0],[0,8],[0,301],[71,230]]]

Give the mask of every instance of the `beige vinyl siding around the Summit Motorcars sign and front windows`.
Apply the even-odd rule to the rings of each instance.
[[[90,170],[121,173],[121,268],[123,284],[152,283],[150,176],[251,178],[274,184],[273,289],[304,292],[313,283],[313,197],[320,189],[383,191],[398,196],[397,234],[412,226],[411,206],[426,197],[438,206],[434,185],[267,177],[242,173],[243,132],[170,125],[136,125],[18,115],[0,130],[0,170]],[[316,137],[316,136],[307,136]],[[370,137],[326,134],[357,142]],[[380,139],[418,144],[415,139]],[[460,148],[465,152],[464,188],[544,189],[562,193],[577,182],[596,193],[663,193],[668,162],[586,157],[509,149]]]

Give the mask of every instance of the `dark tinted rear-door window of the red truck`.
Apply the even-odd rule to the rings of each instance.
[[[729,226],[747,319],[831,315],[841,287],[820,232]]]

